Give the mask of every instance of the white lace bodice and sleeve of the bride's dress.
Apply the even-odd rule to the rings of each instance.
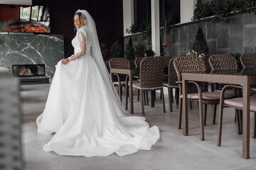
[[[84,37],[82,37],[82,36],[84,36]],[[82,41],[82,38],[85,38],[85,44]],[[75,38],[73,38],[73,40],[72,40],[72,45],[74,47],[75,55],[82,52],[82,47],[84,45],[86,47],[86,51],[85,51],[85,55],[83,55],[82,57],[84,57],[86,55],[90,55],[90,49],[91,49],[90,37],[87,33],[85,26],[82,26],[81,28],[78,29],[78,32],[76,33]]]

